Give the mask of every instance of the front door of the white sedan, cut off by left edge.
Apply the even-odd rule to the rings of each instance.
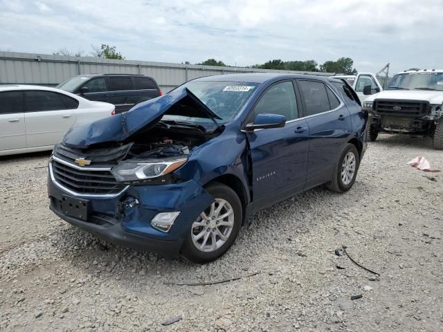
[[[23,92],[0,92],[0,151],[25,147]]]

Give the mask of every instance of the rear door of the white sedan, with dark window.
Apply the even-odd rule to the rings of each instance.
[[[28,147],[60,142],[75,123],[78,100],[53,91],[25,91],[26,140]]]

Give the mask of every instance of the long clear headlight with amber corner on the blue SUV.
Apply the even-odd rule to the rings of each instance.
[[[128,160],[111,169],[119,182],[143,181],[174,172],[188,161],[188,158],[167,158],[161,160]]]

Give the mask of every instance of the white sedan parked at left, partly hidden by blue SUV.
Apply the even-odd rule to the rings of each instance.
[[[73,124],[113,116],[114,109],[46,86],[0,86],[0,156],[51,150]]]

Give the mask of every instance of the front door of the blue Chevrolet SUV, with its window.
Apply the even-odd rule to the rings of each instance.
[[[252,161],[254,210],[287,199],[302,191],[306,181],[309,129],[299,119],[293,82],[273,84],[255,104],[248,122],[260,113],[285,116],[282,128],[257,129],[247,133]]]

